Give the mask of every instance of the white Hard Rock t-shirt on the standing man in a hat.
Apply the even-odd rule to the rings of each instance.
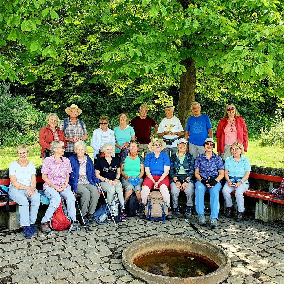
[[[184,129],[181,126],[180,120],[175,116],[173,116],[172,118],[165,117],[164,119],[162,119],[159,125],[159,128],[158,128],[158,133],[162,133],[166,130],[169,131],[169,134],[164,135],[163,138],[171,139],[171,140],[178,137],[177,135],[170,135],[171,132],[184,131]],[[166,145],[166,148],[177,147],[177,140],[175,140],[172,143],[172,145]]]

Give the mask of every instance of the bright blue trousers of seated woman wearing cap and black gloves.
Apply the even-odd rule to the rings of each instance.
[[[203,183],[201,183],[199,180],[195,183],[195,209],[198,215],[204,214],[204,194],[207,190],[209,190],[210,193],[210,209],[211,209],[211,215],[210,219],[217,218],[219,219],[219,191],[221,189],[221,183],[217,183],[213,187],[206,187]]]

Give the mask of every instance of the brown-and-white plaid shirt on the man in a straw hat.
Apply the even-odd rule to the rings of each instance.
[[[64,131],[64,120],[62,120],[60,123],[60,129]],[[83,122],[83,129],[82,129],[78,118],[75,124],[73,124],[73,122],[70,120],[70,117],[67,118],[67,127],[66,127],[66,130],[64,131],[65,137],[67,138],[73,138],[74,136],[82,137],[85,134],[88,134],[88,131],[87,131],[87,128],[84,122]],[[69,141],[66,141],[66,142],[67,142],[67,147],[65,151],[73,153],[73,146],[75,142],[69,142]]]

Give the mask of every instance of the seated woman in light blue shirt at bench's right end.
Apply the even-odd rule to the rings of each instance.
[[[244,196],[243,193],[249,189],[248,177],[251,171],[249,159],[244,157],[244,146],[240,142],[235,142],[230,147],[231,156],[225,160],[224,176],[226,183],[223,187],[223,196],[226,202],[225,216],[231,216],[233,202],[231,192],[236,191],[236,201],[238,214],[236,221],[244,219]]]

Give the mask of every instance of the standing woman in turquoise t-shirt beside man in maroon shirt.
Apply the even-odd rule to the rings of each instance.
[[[127,113],[120,114],[117,120],[119,121],[120,125],[115,127],[113,132],[116,141],[115,157],[120,159],[123,155],[123,152],[126,152],[126,149],[129,150],[129,141],[131,139],[135,140],[135,133],[133,127],[127,124],[130,121]]]

